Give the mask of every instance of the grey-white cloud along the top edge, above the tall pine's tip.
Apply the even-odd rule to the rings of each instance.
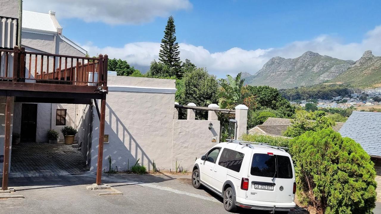
[[[171,11],[192,8],[189,0],[27,0],[24,10],[48,13],[58,18],[79,18],[86,22],[107,24],[140,24]]]

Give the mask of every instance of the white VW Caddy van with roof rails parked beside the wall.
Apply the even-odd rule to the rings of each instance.
[[[238,140],[219,143],[196,160],[192,184],[222,196],[227,211],[241,207],[287,213],[295,208],[295,171],[283,147]]]

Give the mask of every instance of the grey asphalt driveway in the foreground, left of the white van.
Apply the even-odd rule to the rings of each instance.
[[[54,176],[55,180],[11,178],[16,194],[25,198],[0,200],[0,213],[228,213],[215,194],[194,189],[189,176],[106,175],[104,183],[123,195],[104,196],[98,195],[103,190],[85,190],[94,178],[90,173]],[[25,186],[26,183],[31,186]],[[238,213],[268,212],[241,210]]]

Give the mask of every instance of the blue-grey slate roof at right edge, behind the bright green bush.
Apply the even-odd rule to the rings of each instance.
[[[381,113],[354,111],[339,130],[350,137],[372,156],[381,156]]]

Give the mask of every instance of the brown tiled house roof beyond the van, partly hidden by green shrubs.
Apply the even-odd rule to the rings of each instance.
[[[282,133],[291,126],[291,119],[269,117],[262,124],[248,130],[249,134],[263,134],[272,135],[275,137],[282,136]],[[343,122],[336,122],[336,126],[332,127],[333,130],[338,132],[343,126]]]

